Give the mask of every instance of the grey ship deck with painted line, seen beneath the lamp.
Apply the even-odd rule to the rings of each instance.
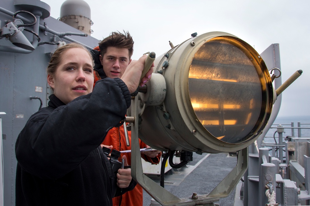
[[[222,179],[236,166],[237,157],[229,156],[228,153],[219,154],[193,154],[193,161],[180,169],[171,169],[165,174],[165,188],[179,198],[189,197],[197,194],[208,194]],[[172,173],[172,174],[171,174]],[[160,184],[157,175],[148,175],[155,182]],[[215,202],[220,206],[243,205],[240,200],[239,183],[232,193]],[[143,192],[143,206],[149,206],[151,196]]]

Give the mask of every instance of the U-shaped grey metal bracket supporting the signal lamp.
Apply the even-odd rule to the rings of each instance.
[[[139,100],[131,100],[131,116],[138,116]],[[206,195],[198,195],[198,199],[178,198],[159,184],[148,178],[143,173],[141,154],[138,138],[138,118],[134,118],[134,124],[131,127],[131,176],[132,178],[157,202],[164,206],[189,206],[189,205],[213,205],[213,202],[220,198],[227,197],[237,186],[241,177],[248,167],[248,148],[238,151],[237,165],[232,171],[210,192]]]

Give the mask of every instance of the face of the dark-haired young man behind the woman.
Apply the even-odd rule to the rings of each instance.
[[[109,46],[104,56],[100,55],[100,62],[107,77],[121,78],[131,59],[129,50]]]

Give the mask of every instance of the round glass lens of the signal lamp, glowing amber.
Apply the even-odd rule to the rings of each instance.
[[[262,109],[262,72],[244,46],[213,38],[194,55],[188,87],[193,110],[217,139],[241,143],[257,128]]]

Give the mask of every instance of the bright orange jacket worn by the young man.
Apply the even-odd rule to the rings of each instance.
[[[128,131],[129,142],[131,142],[131,131]],[[139,139],[140,148],[146,148],[147,145]],[[118,151],[130,150],[131,146],[127,147],[124,127],[113,127],[108,131],[107,136],[102,142],[104,145],[113,145],[113,149]],[[122,156],[126,155],[128,165],[131,165],[131,153],[122,153],[119,160],[122,159]],[[141,154],[141,157],[152,164],[158,164],[161,153],[157,157],[150,158],[144,154]],[[135,188],[131,191],[126,192],[125,194],[113,198],[113,206],[142,206],[143,205],[143,190],[142,187],[136,185]]]

